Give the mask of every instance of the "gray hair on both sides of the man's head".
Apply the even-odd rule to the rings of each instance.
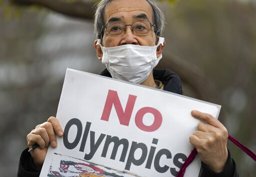
[[[105,25],[104,23],[104,9],[107,4],[109,4],[112,0],[101,0],[96,5],[95,16],[94,16],[94,32],[98,39],[103,37],[102,26]],[[155,5],[152,0],[146,0],[152,7],[153,10],[153,24],[155,24],[154,32],[155,35],[161,36],[163,27],[164,27],[164,15],[162,11]]]

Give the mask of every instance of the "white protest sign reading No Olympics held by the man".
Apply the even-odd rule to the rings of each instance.
[[[67,69],[56,117],[64,130],[40,176],[176,176],[199,120],[220,105]],[[198,176],[198,157],[184,176]]]

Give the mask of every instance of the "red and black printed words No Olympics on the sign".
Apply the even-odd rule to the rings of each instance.
[[[133,106],[135,103],[135,99],[136,99],[135,95],[129,95],[125,110],[123,111],[121,104],[120,104],[120,100],[117,95],[117,92],[113,91],[113,90],[108,90],[103,113],[102,113],[102,116],[100,119],[108,121],[112,105],[114,105],[120,124],[128,126],[131,112],[132,112],[132,109],[133,109]],[[152,125],[150,125],[150,126],[144,125],[142,122],[143,115],[148,112],[152,113],[154,115],[154,121],[153,121]],[[141,129],[143,131],[155,131],[156,129],[158,129],[160,127],[161,122],[162,122],[161,113],[157,109],[152,108],[152,107],[142,107],[141,109],[139,109],[137,111],[137,113],[135,115],[135,124],[139,129]],[[70,127],[73,125],[76,126],[77,131],[76,131],[74,140],[72,142],[69,142],[68,141],[68,132],[69,132]],[[91,131],[90,126],[91,126],[91,122],[86,121],[85,128],[84,128],[84,131],[82,134],[82,130],[83,130],[82,122],[78,118],[71,118],[66,123],[65,128],[64,128],[64,134],[63,134],[64,146],[67,149],[73,149],[81,141],[80,147],[79,147],[79,151],[81,151],[81,152],[84,152],[87,137],[89,136],[88,141],[89,141],[90,151],[89,151],[89,153],[85,153],[85,155],[84,155],[85,160],[90,160],[94,156],[95,152],[98,150],[98,147],[102,143],[103,140],[104,140],[104,143],[103,143],[104,145],[103,145],[102,152],[101,152],[100,156],[106,157],[107,151],[109,149],[108,147],[112,143],[113,146],[112,146],[112,152],[111,152],[110,159],[115,160],[115,157],[117,154],[117,149],[119,148],[120,145],[122,145],[122,151],[120,154],[119,161],[125,162],[125,159],[127,159],[125,162],[125,168],[124,168],[126,170],[130,169],[131,164],[140,166],[146,161],[145,168],[150,169],[152,166],[152,163],[153,163],[154,169],[157,172],[164,173],[169,170],[169,172],[172,175],[176,176],[178,173],[178,171],[176,170],[176,167],[180,168],[182,165],[181,161],[185,161],[187,158],[186,155],[183,153],[176,153],[172,159],[173,164],[175,166],[170,167],[167,164],[160,165],[160,158],[164,158],[164,156],[165,156],[166,159],[171,159],[172,154],[166,148],[162,148],[162,149],[159,149],[158,151],[156,151],[156,145],[158,143],[157,138],[152,138],[152,144],[150,147],[148,147],[145,143],[142,143],[142,142],[129,141],[126,138],[120,139],[117,136],[111,136],[111,135],[103,134],[103,133],[101,133],[99,135],[99,137],[97,139],[95,139],[95,131]],[[135,151],[137,149],[141,150],[141,154],[139,154],[139,157],[138,157],[137,153],[135,155]],[[127,154],[128,154],[128,156],[126,158]]]

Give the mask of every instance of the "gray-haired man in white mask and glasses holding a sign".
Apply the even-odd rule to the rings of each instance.
[[[100,74],[182,94],[178,76],[168,69],[153,69],[161,58],[165,41],[160,37],[163,15],[150,0],[101,0],[95,12],[94,42],[97,58],[107,69]],[[199,176],[238,176],[226,148],[227,130],[207,113],[192,110],[201,120],[189,140],[202,161]],[[49,145],[57,145],[55,133],[63,135],[57,118],[50,117],[27,135],[30,148],[20,157],[18,176],[38,176]]]

